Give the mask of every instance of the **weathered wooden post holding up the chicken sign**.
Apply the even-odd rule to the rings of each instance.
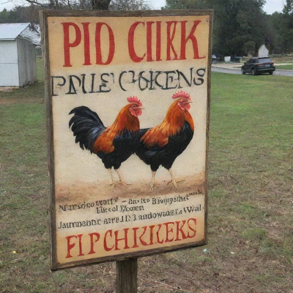
[[[137,293],[137,258],[116,261],[116,293]]]

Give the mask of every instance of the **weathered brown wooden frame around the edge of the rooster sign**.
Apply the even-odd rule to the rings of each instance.
[[[205,161],[205,238],[202,241],[185,243],[180,245],[124,253],[100,258],[92,258],[69,262],[65,264],[57,263],[56,251],[56,215],[55,215],[55,178],[54,178],[54,139],[53,139],[53,116],[52,116],[52,95],[50,86],[50,59],[49,59],[49,40],[47,17],[129,17],[129,16],[209,16],[209,54],[207,71],[207,124],[206,124],[206,161]],[[47,159],[48,159],[48,177],[49,177],[49,196],[50,196],[50,267],[51,270],[68,268],[73,266],[90,265],[92,263],[101,263],[115,260],[125,260],[147,255],[159,254],[168,251],[175,251],[184,248],[202,246],[207,244],[207,175],[208,175],[208,150],[209,150],[209,113],[210,113],[210,86],[211,86],[211,64],[212,64],[212,26],[213,10],[150,10],[150,11],[82,11],[82,10],[42,10],[40,11],[42,58],[44,62],[44,82],[45,82],[45,106],[46,106],[46,126],[47,126]]]

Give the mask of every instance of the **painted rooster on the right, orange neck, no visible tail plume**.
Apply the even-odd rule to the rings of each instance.
[[[176,100],[169,107],[163,122],[156,127],[140,130],[141,138],[136,154],[144,163],[151,166],[152,190],[155,186],[156,171],[160,165],[169,171],[170,182],[177,188],[171,167],[193,137],[193,119],[188,112],[192,103],[189,94],[180,91],[172,98]]]

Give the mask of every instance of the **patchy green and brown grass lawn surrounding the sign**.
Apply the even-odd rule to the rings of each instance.
[[[209,243],[140,258],[139,292],[293,292],[292,84],[212,73]],[[112,293],[115,263],[49,270],[43,86],[0,93],[0,292]]]

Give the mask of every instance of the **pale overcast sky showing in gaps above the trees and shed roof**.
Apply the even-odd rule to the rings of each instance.
[[[5,3],[10,0],[0,0],[0,11],[3,10],[3,8],[6,9],[12,9],[16,5],[22,5],[23,3],[26,3],[25,0],[13,0],[11,2]],[[267,4],[264,6],[265,12],[268,14],[271,14],[275,11],[282,11],[283,8],[283,2],[285,0],[267,0]],[[165,0],[153,0],[153,1],[147,1],[154,9],[161,9],[162,6],[165,5]]]

